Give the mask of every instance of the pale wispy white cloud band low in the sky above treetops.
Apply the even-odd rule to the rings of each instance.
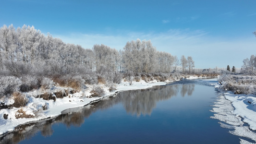
[[[115,35],[82,34],[73,33],[65,36],[57,36],[66,43],[81,45],[83,48],[93,48],[95,44],[104,44],[110,48],[122,49],[128,41],[151,40],[152,45],[158,51],[166,51],[180,58],[182,55],[192,56],[196,68],[209,68],[209,63],[216,63],[218,67],[234,65],[240,67],[243,60],[251,55],[256,47],[255,37],[226,39],[225,37],[213,37],[203,30],[170,29],[161,33],[124,32]],[[230,59],[226,54],[237,55],[237,51],[246,48],[239,53],[238,59]],[[218,62],[219,58],[221,61]]]

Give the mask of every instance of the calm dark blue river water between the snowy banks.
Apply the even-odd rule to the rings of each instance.
[[[120,92],[0,137],[5,144],[239,144],[211,119],[214,87],[183,81]]]

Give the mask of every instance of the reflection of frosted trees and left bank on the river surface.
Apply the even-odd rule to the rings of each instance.
[[[71,126],[80,127],[86,122],[85,118],[88,118],[92,113],[100,109],[110,108],[118,103],[122,103],[126,112],[132,115],[150,115],[158,101],[170,99],[172,96],[177,96],[179,92],[181,96],[186,94],[191,96],[194,89],[195,84],[171,84],[145,90],[124,91],[117,96],[106,97],[82,108],[64,110],[60,116],[53,119],[39,120],[18,126],[13,132],[0,135],[0,143],[19,143],[33,137],[38,132],[41,132],[41,135],[45,137],[51,136],[54,134],[52,125],[55,123],[63,123],[68,128]]]

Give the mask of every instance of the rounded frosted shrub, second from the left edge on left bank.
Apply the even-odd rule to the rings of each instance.
[[[28,92],[33,89],[38,89],[38,80],[37,77],[31,75],[25,75],[21,78],[22,84],[20,86],[21,92]]]

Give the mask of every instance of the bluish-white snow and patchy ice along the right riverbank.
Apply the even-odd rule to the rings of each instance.
[[[230,133],[243,137],[240,144],[256,144],[256,96],[236,95],[220,90],[218,83],[214,85],[219,97],[211,110],[215,112],[211,118],[222,121],[219,122],[220,126],[231,129]]]

